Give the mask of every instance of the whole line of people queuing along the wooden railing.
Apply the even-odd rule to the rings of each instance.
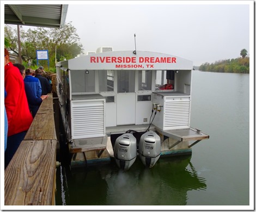
[[[40,104],[52,88],[42,76],[44,67],[35,70],[22,64],[10,62],[9,52],[4,48],[4,167],[13,158],[25,138]]]

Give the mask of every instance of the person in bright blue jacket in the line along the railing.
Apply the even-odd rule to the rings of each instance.
[[[35,78],[32,76],[33,70],[31,68],[26,69],[26,77],[24,79],[24,82],[28,83],[31,87],[32,91],[34,92],[34,95],[36,97],[40,97],[42,95],[42,87],[41,83],[38,78]]]

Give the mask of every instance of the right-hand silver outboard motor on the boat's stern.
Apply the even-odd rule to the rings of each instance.
[[[161,140],[155,132],[147,132],[139,140],[139,158],[146,167],[153,167],[160,158]]]

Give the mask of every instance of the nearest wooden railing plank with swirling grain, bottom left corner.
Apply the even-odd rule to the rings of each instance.
[[[51,205],[57,140],[23,140],[4,171],[5,205]]]

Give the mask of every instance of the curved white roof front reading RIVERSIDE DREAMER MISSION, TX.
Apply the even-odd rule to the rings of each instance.
[[[193,62],[175,55],[113,51],[85,55],[56,64],[72,70],[192,70]],[[68,67],[66,67],[68,66]]]

